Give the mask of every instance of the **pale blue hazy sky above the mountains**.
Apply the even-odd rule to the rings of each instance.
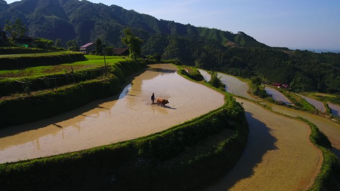
[[[340,50],[340,0],[90,1],[183,24],[243,31],[270,46]]]

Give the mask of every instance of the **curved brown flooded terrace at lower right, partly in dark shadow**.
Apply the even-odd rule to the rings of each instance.
[[[226,76],[223,83],[227,91],[251,97],[245,82]],[[249,123],[247,147],[230,172],[202,190],[296,191],[308,187],[322,160],[320,151],[309,141],[309,126],[246,99],[237,101],[243,103]]]

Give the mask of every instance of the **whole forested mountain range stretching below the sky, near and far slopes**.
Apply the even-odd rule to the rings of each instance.
[[[290,84],[294,90],[340,93],[340,54],[292,51],[257,42],[244,32],[195,27],[86,0],[0,0],[0,27],[20,18],[28,35],[79,45],[101,38],[121,47],[126,27],[144,40],[143,54],[159,53],[188,64],[267,82]]]

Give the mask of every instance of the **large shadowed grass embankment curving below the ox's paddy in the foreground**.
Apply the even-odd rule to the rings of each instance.
[[[243,108],[224,94],[222,107],[159,133],[79,152],[1,164],[0,185],[15,190],[195,188],[231,168],[247,143]]]

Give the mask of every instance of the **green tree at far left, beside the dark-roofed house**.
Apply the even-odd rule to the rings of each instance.
[[[8,20],[5,21],[5,25],[3,30],[9,32],[10,39],[15,40],[25,34],[28,31],[26,25],[22,23],[20,18],[17,18],[14,23],[9,22]]]

